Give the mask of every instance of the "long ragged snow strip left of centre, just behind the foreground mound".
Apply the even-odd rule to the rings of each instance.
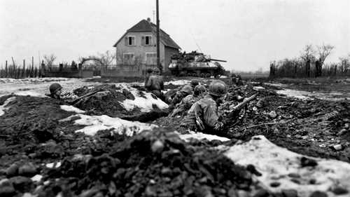
[[[141,133],[143,130],[151,130],[157,127],[157,125],[153,124],[140,123],[138,121],[125,121],[121,118],[112,118],[106,115],[87,116],[77,114],[64,118],[61,121],[71,121],[72,118],[79,118],[74,121],[74,125],[85,125],[85,128],[76,130],[76,133],[82,132],[85,133],[85,135],[95,135],[99,130],[112,130],[113,133],[132,136]]]

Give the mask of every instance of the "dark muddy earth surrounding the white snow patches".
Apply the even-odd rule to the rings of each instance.
[[[276,90],[281,87],[263,83],[283,83],[297,90],[349,93],[349,82],[335,80],[318,85],[286,79],[255,82],[245,83],[239,94],[253,95],[256,93],[253,86],[262,86],[265,90],[241,111],[241,118],[229,121],[227,132],[220,134],[232,139],[225,143],[235,144],[253,135],[265,135],[274,144],[300,154],[350,162],[349,100],[300,100],[279,95]],[[179,86],[169,83],[166,88]],[[143,90],[139,85],[134,88]],[[85,89],[76,91],[80,95]],[[128,96],[127,92],[113,93],[107,98],[125,100]],[[0,116],[0,196],[22,196],[25,192],[38,196],[59,193],[62,196],[241,196],[247,193],[278,196],[252,181],[251,174],[258,173],[251,170],[253,167],[237,166],[209,148],[223,142],[185,143],[174,136],[174,130],[186,133],[179,128],[183,117],[168,118],[166,111],[136,117],[132,114],[139,113],[139,109],[130,112],[117,106],[114,110],[111,105],[116,103],[105,106],[96,104],[97,100],[87,100],[77,106],[87,114],[107,114],[165,127],[135,137],[111,135],[110,130],[90,136],[75,133],[83,126],[74,125],[74,120],[60,121],[75,114],[61,109],[65,102],[48,97],[8,95],[0,97],[0,105],[8,97],[15,99]],[[228,103],[237,102],[228,100]],[[155,116],[160,113],[162,118]],[[57,161],[62,161],[59,168],[45,165]],[[43,175],[38,182],[28,178],[37,174]]]

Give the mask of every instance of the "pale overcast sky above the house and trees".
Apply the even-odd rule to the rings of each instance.
[[[113,44],[155,0],[1,0],[0,65],[14,57],[58,62],[115,51]],[[226,69],[267,70],[306,44],[335,46],[328,62],[350,53],[350,1],[160,0],[160,27],[183,50],[228,60]],[[199,47],[198,47],[199,46]]]

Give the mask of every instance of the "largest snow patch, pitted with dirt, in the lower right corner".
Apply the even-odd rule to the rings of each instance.
[[[256,179],[271,191],[295,189],[298,191],[298,196],[302,197],[309,196],[312,191],[324,191],[328,196],[335,196],[330,191],[335,186],[350,189],[350,163],[313,158],[318,163],[316,167],[302,168],[301,154],[278,147],[262,135],[252,137],[251,141],[234,145],[225,152],[225,155],[240,165],[253,164],[256,170],[262,173],[262,176]],[[291,175],[296,177],[294,179],[297,179],[300,184],[291,181]],[[311,179],[315,179],[316,183],[311,184]],[[272,187],[270,186],[272,182],[279,182],[281,185]],[[349,193],[346,196],[349,196]]]

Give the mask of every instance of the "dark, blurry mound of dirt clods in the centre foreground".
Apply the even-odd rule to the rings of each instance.
[[[146,131],[102,156],[66,158],[45,175],[39,196],[226,196],[249,190],[251,173],[217,151],[165,129]],[[87,195],[89,194],[89,195]]]

